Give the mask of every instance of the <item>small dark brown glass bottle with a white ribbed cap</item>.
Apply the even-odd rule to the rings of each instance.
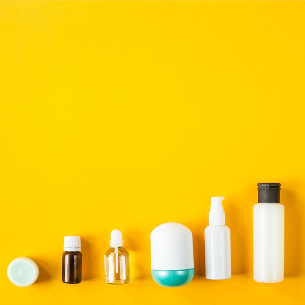
[[[65,236],[62,254],[62,282],[78,284],[81,282],[81,253],[79,236]]]

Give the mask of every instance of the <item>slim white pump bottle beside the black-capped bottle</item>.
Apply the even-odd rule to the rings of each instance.
[[[224,199],[211,197],[209,226],[205,229],[206,278],[209,280],[231,277],[230,229],[225,226]]]

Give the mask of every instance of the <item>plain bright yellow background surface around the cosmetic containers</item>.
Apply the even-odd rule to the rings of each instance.
[[[305,2],[0,2],[0,304],[305,304]],[[257,182],[281,182],[285,275],[252,279]],[[225,196],[232,278],[204,277]],[[150,276],[150,233],[191,229],[195,278]],[[132,281],[104,282],[112,229]],[[61,283],[64,235],[83,281]],[[8,264],[38,262],[11,284]]]

